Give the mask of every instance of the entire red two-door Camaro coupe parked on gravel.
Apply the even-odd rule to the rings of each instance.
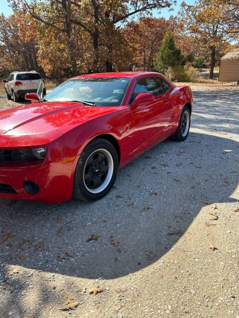
[[[39,96],[0,111],[0,198],[100,199],[118,168],[189,133],[192,91],[159,73],[83,75]]]

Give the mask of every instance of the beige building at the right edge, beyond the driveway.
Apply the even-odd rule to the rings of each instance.
[[[221,58],[218,80],[239,82],[239,49],[235,49]]]

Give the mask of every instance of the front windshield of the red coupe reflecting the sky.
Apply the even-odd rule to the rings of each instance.
[[[69,79],[53,89],[47,101],[85,101],[97,106],[120,106],[129,78]]]

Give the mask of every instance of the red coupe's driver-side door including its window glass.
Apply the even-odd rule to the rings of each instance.
[[[130,106],[136,156],[163,139],[171,118],[168,93],[165,92],[159,77],[139,79],[134,87],[130,103],[143,92],[152,93],[155,98],[138,106]]]

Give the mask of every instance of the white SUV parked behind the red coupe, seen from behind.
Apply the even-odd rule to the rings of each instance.
[[[35,93],[40,80],[43,80],[36,71],[30,72],[12,72],[5,82],[5,91],[7,99],[19,101],[20,97],[24,97],[26,93]],[[44,80],[43,80],[44,82]],[[46,94],[46,88],[43,88],[43,95]]]

